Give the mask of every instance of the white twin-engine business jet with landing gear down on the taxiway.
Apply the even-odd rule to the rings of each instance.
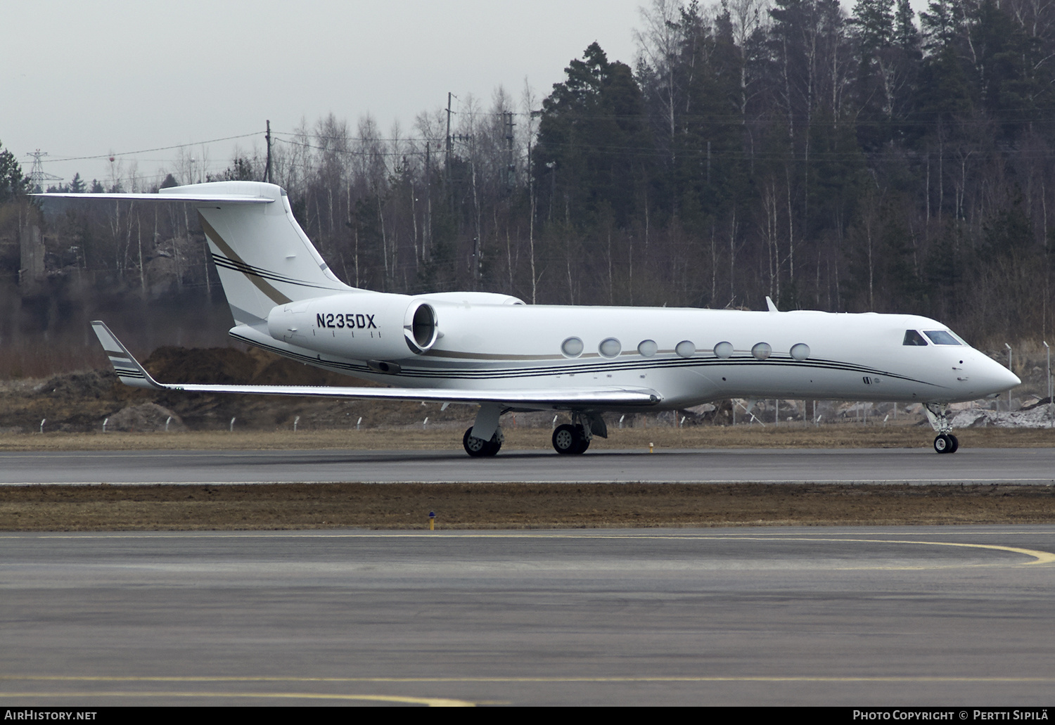
[[[392,387],[159,383],[102,322],[121,381],[200,393],[388,398],[479,404],[463,444],[502,445],[511,411],[565,411],[553,447],[607,437],[601,413],[670,411],[725,398],[920,402],[953,453],[948,403],[1020,383],[944,325],[910,314],[525,305],[486,292],[388,294],[326,266],[272,184],[218,182],[156,194],[44,194],[194,205],[231,306],[231,336]],[[767,300],[768,302],[768,300]]]

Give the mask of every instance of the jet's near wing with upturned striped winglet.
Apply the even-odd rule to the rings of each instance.
[[[651,406],[663,400],[657,392],[646,387],[596,386],[570,389],[497,389],[474,390],[440,387],[338,387],[322,385],[200,385],[194,383],[159,383],[139,364],[128,348],[110,331],[106,323],[92,323],[96,337],[117,377],[126,385],[158,390],[186,393],[239,393],[248,395],[310,396],[316,398],[359,398],[382,400],[421,400],[444,403],[501,403],[511,407],[555,409]]]

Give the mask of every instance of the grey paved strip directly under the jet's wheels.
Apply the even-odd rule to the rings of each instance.
[[[0,454],[0,484],[273,482],[1052,483],[1055,449],[113,451]]]

